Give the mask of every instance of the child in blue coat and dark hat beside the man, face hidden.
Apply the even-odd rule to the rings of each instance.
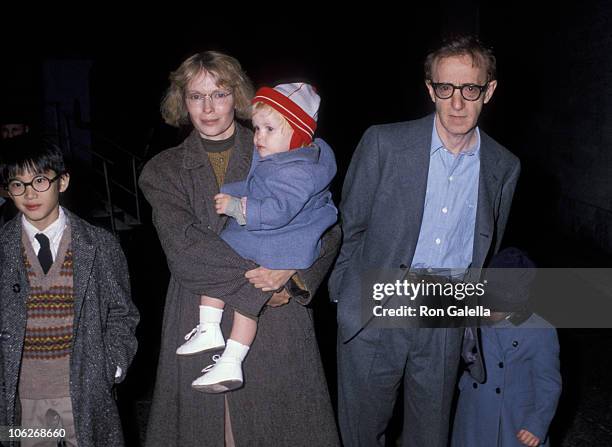
[[[453,447],[549,445],[561,394],[559,342],[555,328],[528,310],[534,267],[515,248],[491,260],[483,303],[491,321],[480,329],[486,380],[466,371],[459,381]]]

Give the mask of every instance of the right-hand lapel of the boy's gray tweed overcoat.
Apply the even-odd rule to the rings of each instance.
[[[66,211],[66,210],[65,210]],[[89,278],[93,269],[96,256],[96,246],[89,237],[80,219],[69,211],[66,216],[70,222],[72,231],[72,255],[73,255],[73,285],[74,285],[74,333],[78,324],[83,307],[83,300],[89,286]]]

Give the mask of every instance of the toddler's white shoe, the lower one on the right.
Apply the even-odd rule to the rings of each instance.
[[[214,365],[202,370],[204,375],[193,381],[191,387],[203,393],[224,393],[240,388],[242,379],[242,362],[231,356],[213,355]]]

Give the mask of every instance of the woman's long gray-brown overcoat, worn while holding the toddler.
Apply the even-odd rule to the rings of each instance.
[[[253,135],[237,125],[225,182],[244,180],[251,165]],[[176,348],[198,323],[200,295],[223,299],[226,339],[232,308],[257,315],[270,298],[244,278],[255,267],[218,235],[227,217],[214,209],[219,188],[197,132],[147,163],[140,187],[153,208],[153,223],[171,273],[162,327],[157,381],[147,445],[223,446],[227,397],[236,445],[334,446],[338,435],[310,310],[305,307],[331,266],[339,244],[334,227],[321,257],[300,271],[308,298],[266,308],[244,363],[243,388],[205,394],[191,388],[211,354],[178,357]]]

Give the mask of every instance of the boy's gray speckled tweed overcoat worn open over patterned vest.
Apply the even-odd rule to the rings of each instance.
[[[112,387],[136,353],[138,311],[130,298],[125,256],[117,240],[66,210],[72,232],[74,332],[70,397],[79,447],[122,446]],[[19,425],[19,369],[29,283],[21,249],[21,214],[0,230],[0,340],[4,359],[2,407]],[[121,375],[115,377],[117,367]]]

